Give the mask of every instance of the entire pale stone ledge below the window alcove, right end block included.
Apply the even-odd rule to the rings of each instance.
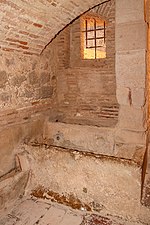
[[[142,165],[145,142],[144,137],[142,137],[143,141],[139,141],[141,140],[139,135],[142,136],[143,132],[139,134],[139,132],[124,131],[123,133],[123,131],[114,128],[47,122],[44,128],[44,139],[39,144],[107,157],[125,158]],[[34,145],[34,140],[31,144]]]

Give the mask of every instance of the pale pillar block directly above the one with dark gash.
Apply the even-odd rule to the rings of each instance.
[[[116,54],[116,82],[125,88],[145,88],[145,50],[125,51]]]

